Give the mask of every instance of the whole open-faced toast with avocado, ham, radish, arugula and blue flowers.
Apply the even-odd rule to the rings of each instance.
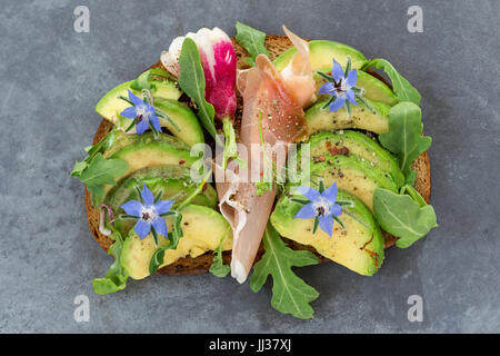
[[[283,30],[190,32],[98,102],[71,172],[114,257],[97,294],[154,273],[254,291],[271,276],[272,307],[310,318],[319,294],[292,267],[371,276],[437,226],[417,89],[386,59]]]

